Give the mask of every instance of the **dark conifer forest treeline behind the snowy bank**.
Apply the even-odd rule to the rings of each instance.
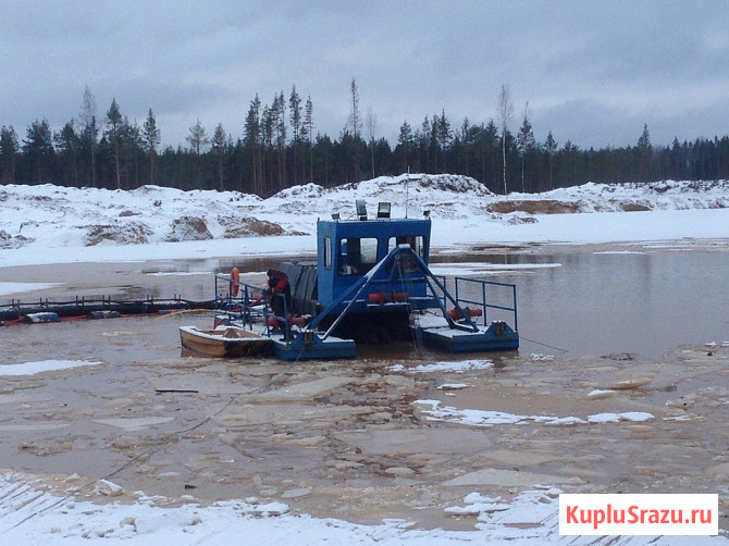
[[[412,126],[404,121],[397,142],[376,136],[376,116],[362,116],[355,80],[350,113],[336,138],[316,131],[311,98],[292,88],[270,104],[250,101],[239,136],[222,124],[209,132],[199,120],[188,146],[160,147],[161,127],[149,109],[141,126],[116,100],[102,117],[88,87],[76,119],[53,131],[36,120],[24,135],[0,129],[0,184],[57,184],[134,189],[145,184],[189,189],[238,190],[267,197],[314,183],[338,186],[381,175],[450,173],[471,176],[492,191],[539,193],[585,182],[729,178],[729,137],[653,146],[648,127],[635,146],[588,150],[548,133],[534,139],[529,109],[509,127],[511,104],[502,87],[499,119],[455,125],[444,111]]]

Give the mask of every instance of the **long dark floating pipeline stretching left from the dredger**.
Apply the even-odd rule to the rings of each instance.
[[[212,310],[214,300],[195,301],[182,298],[144,300],[114,300],[111,298],[71,301],[39,300],[12,301],[0,306],[0,324],[58,322],[71,319],[113,319],[134,314],[161,314],[191,309]]]

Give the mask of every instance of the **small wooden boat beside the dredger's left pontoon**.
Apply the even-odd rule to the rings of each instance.
[[[180,326],[180,342],[184,349],[199,355],[226,358],[263,356],[272,345],[270,337],[236,326],[215,330]]]

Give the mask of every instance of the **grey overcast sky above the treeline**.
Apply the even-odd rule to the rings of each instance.
[[[457,129],[494,119],[502,85],[518,131],[539,141],[654,145],[729,134],[725,1],[11,1],[0,4],[0,125],[60,129],[89,86],[100,119],[116,99],[163,145],[199,119],[234,138],[256,94],[296,85],[316,131],[338,138],[359,89],[362,117],[394,146],[407,121]]]

